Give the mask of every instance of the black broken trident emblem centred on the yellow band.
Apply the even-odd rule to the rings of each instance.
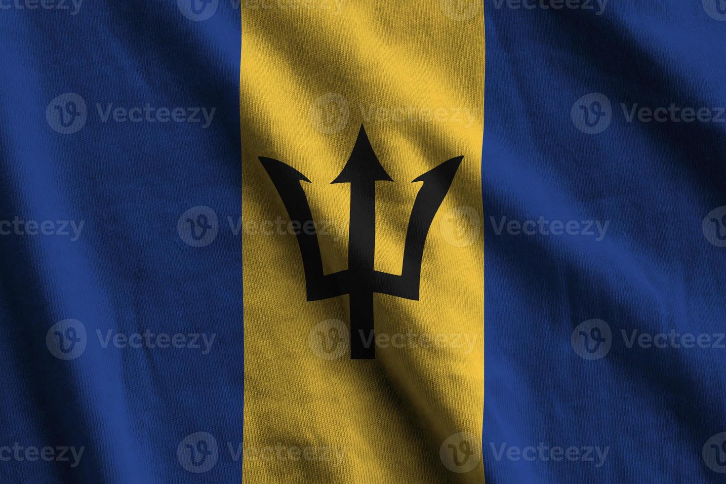
[[[351,184],[351,221],[348,233],[348,269],[323,274],[322,256],[314,230],[310,205],[301,186],[309,179],[285,163],[259,157],[285,204],[291,222],[312,226],[298,231],[303,258],[307,300],[317,301],[350,295],[351,359],[375,358],[373,293],[419,299],[421,261],[428,229],[449,192],[463,156],[457,156],[427,171],[411,183],[423,181],[413,204],[404,247],[401,275],[375,271],[375,182],[393,181],[378,162],[363,126],[343,171],[332,183]]]

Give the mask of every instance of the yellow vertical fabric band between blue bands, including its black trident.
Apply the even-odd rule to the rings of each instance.
[[[242,1],[241,64],[243,482],[483,482],[483,6]]]

